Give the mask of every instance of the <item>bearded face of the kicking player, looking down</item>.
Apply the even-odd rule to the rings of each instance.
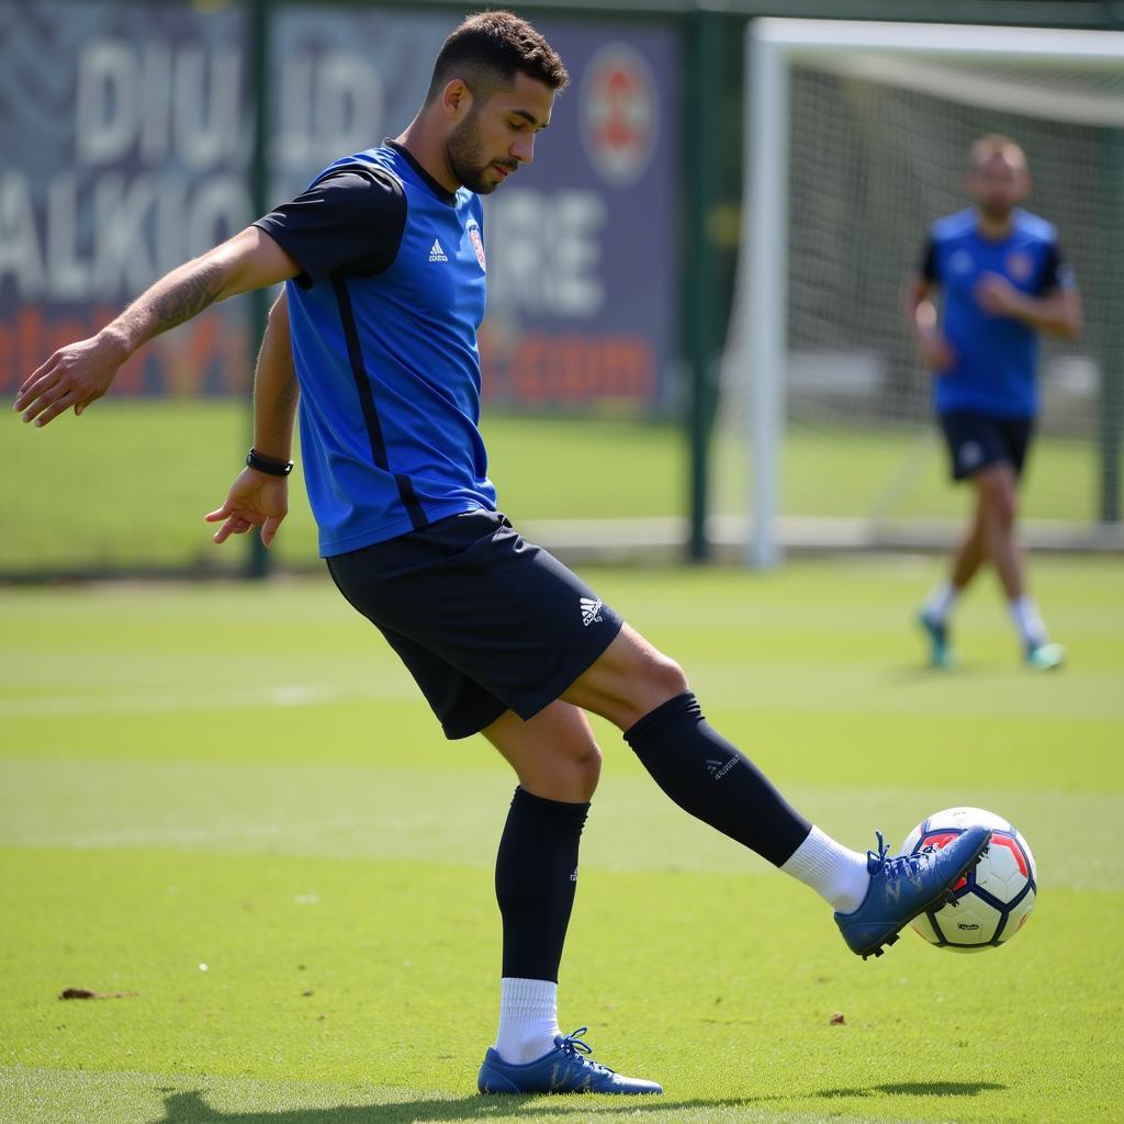
[[[554,91],[526,74],[516,74],[509,90],[473,103],[445,140],[453,174],[478,194],[495,191],[534,160],[535,134],[550,124],[553,106]]]

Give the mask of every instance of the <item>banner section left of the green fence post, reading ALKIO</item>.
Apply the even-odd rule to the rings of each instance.
[[[0,35],[0,393],[246,224],[244,19],[10,4]],[[245,393],[245,309],[154,341],[117,393]]]

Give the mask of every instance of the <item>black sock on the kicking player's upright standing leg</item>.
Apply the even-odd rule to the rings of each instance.
[[[515,790],[496,856],[505,977],[558,982],[588,813],[588,804]]]

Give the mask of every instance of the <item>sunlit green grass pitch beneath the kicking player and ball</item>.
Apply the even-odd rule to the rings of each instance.
[[[989,584],[962,670],[923,670],[931,561],[588,575],[851,845],[954,803],[1013,818],[1026,930],[863,963],[598,726],[562,1023],[668,1093],[480,1098],[513,786],[490,751],[442,741],[326,580],[0,589],[0,1121],[1122,1120],[1120,563],[1036,563],[1071,655],[1048,677]]]

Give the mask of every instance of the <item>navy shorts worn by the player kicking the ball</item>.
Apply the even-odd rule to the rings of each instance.
[[[326,560],[441,720],[468,737],[549,706],[620,631],[574,573],[495,511],[465,511]]]

